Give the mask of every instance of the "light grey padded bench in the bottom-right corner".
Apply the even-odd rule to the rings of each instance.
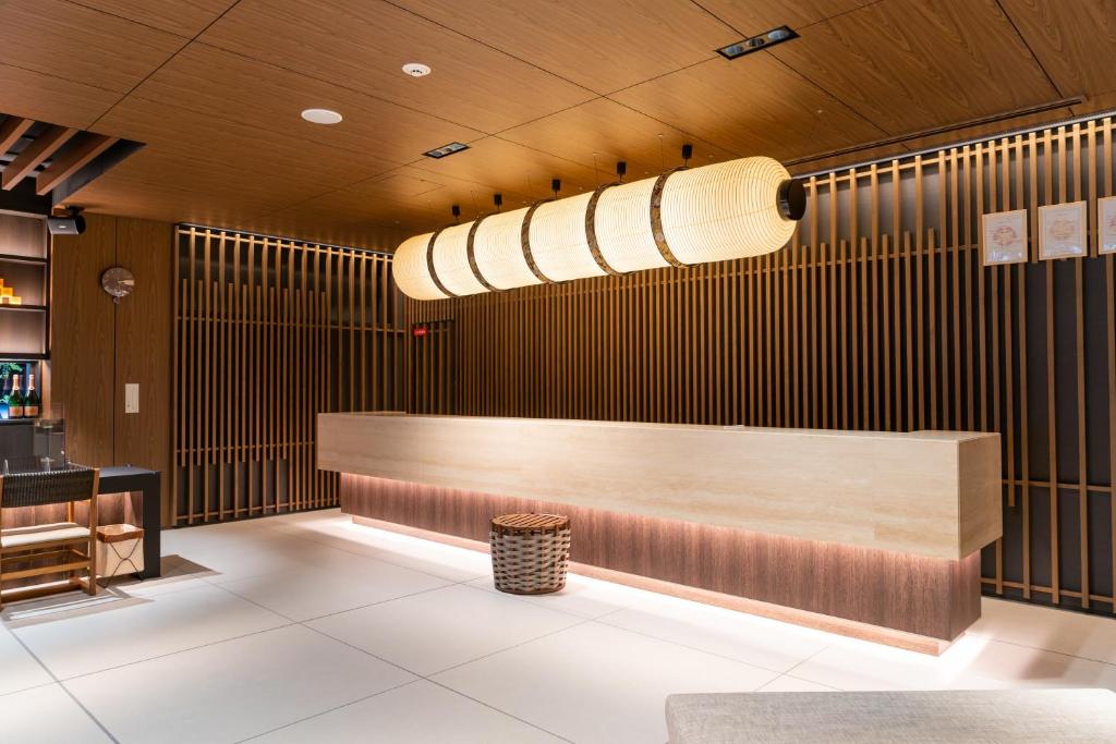
[[[1116,742],[1108,689],[725,693],[666,698],[670,744]]]

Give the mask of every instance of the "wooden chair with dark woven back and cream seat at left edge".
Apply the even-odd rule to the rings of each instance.
[[[0,476],[0,607],[71,588],[97,593],[97,486],[100,471],[71,467]],[[89,502],[87,523],[74,520],[74,505]],[[4,510],[66,504],[66,521],[4,529]],[[36,510],[38,513],[39,510]],[[12,568],[15,567],[15,568]],[[79,576],[85,572],[86,578]],[[65,574],[65,582],[3,590],[6,581]]]

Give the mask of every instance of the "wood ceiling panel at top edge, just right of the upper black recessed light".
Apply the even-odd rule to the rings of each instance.
[[[1058,97],[995,0],[882,0],[801,33],[770,54],[888,134]]]

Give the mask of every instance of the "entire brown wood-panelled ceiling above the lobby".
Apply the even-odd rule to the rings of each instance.
[[[73,203],[385,249],[683,142],[805,172],[1116,105],[1116,0],[6,0],[0,48],[7,113],[147,143]]]

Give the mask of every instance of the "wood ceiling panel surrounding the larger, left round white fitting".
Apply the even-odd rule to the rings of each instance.
[[[208,128],[215,135],[222,122],[239,122],[397,164],[448,142],[482,136],[386,100],[199,44],[167,62],[134,96],[209,114]],[[333,108],[345,120],[333,126],[310,124],[299,116],[305,108]]]

